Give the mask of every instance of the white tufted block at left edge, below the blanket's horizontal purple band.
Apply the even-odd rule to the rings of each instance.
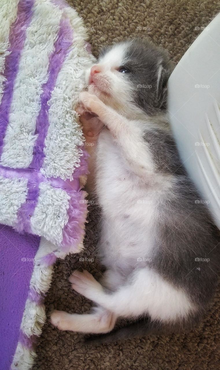
[[[0,223],[14,226],[20,206],[26,201],[26,179],[6,179],[0,176]]]

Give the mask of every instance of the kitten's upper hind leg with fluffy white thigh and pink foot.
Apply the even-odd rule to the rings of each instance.
[[[183,290],[146,268],[136,270],[130,284],[119,287],[114,293],[105,292],[85,270],[74,271],[70,281],[74,290],[116,316],[134,317],[148,313],[152,319],[172,321],[196,309]]]

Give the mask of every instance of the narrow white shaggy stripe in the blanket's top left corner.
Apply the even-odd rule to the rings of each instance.
[[[19,0],[1,0],[0,9],[0,104],[3,93],[3,82],[6,78],[3,76],[5,58],[9,55],[9,31],[11,24],[17,17],[17,4]]]

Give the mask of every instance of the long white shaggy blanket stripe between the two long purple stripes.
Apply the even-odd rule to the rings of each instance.
[[[54,50],[62,11],[49,0],[37,0],[26,32],[16,76],[9,125],[1,164],[26,168],[33,157],[36,118],[40,111],[41,85],[47,82],[49,56]]]

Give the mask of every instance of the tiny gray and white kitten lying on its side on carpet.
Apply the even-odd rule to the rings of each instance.
[[[101,283],[75,271],[72,288],[95,302],[89,314],[55,311],[61,330],[108,333],[93,343],[192,327],[213,297],[220,233],[187,177],[166,117],[166,53],[148,41],[107,48],[87,73],[81,122],[100,129],[95,192],[101,206]],[[88,111],[93,112],[91,119]],[[92,136],[89,131],[88,137]],[[202,260],[201,260],[202,259]],[[208,260],[208,262],[205,262]]]

